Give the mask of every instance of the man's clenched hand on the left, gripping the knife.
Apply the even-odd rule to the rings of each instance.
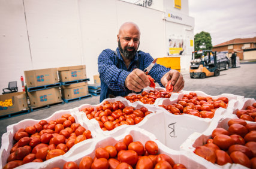
[[[134,92],[140,92],[141,89],[150,85],[149,78],[146,74],[139,70],[133,70],[125,79],[125,87]]]

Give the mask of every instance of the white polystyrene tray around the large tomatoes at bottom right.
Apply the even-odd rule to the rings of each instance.
[[[233,119],[233,118],[222,116],[219,119],[216,119],[215,123],[212,123],[212,125],[206,131],[204,131],[202,133],[194,132],[193,134],[189,135],[188,139],[186,139],[186,141],[184,141],[182,143],[182,145],[180,146],[180,150],[185,150],[186,152],[188,152],[190,154],[189,156],[191,156],[191,158],[193,158],[193,159],[200,157],[194,153],[195,148],[206,144],[206,141],[209,138],[212,138],[212,131],[214,129],[224,128],[224,129],[228,130],[228,121],[230,119]],[[247,123],[251,123],[251,122],[247,122]],[[204,158],[201,158],[201,159],[203,161],[207,161]],[[225,165],[218,165],[218,164],[215,164],[215,165],[219,168],[247,168],[240,164],[230,164],[230,163],[225,164]]]

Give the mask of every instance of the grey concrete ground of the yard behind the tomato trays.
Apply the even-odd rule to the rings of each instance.
[[[222,93],[232,93],[234,95],[242,95],[245,98],[256,99],[256,62],[240,64],[239,68],[230,68],[223,70],[218,77],[207,77],[206,79],[191,79],[189,71],[182,70],[185,79],[185,87],[183,90],[195,91],[200,90],[209,95],[220,95]],[[100,96],[92,96],[91,98],[82,99],[43,110],[32,111],[31,113],[19,116],[0,119],[0,135],[7,132],[7,126],[17,123],[23,119],[45,119],[58,110],[68,110],[70,108],[79,107],[82,104],[99,104]],[[0,142],[1,143],[1,142]],[[1,146],[1,145],[0,145]]]

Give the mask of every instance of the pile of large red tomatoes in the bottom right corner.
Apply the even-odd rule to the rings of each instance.
[[[256,123],[231,119],[228,126],[228,130],[214,129],[212,138],[197,147],[194,153],[213,164],[224,165],[229,162],[256,168]]]

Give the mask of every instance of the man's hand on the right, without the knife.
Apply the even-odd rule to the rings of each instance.
[[[173,85],[173,91],[179,92],[184,87],[184,79],[182,74],[176,70],[168,71],[162,78],[161,83],[166,87],[168,81],[171,80],[171,85]]]

